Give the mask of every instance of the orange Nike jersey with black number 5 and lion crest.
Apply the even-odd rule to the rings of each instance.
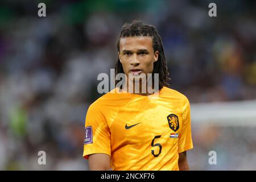
[[[187,97],[167,87],[155,99],[115,90],[88,109],[84,158],[108,154],[113,170],[179,170],[179,153],[193,148]]]

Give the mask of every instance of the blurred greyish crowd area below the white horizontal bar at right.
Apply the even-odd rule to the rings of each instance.
[[[256,170],[256,128],[218,126],[213,123],[192,126],[194,148],[187,152],[192,170]],[[213,162],[213,154],[216,163]]]

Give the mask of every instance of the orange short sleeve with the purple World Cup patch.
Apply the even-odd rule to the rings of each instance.
[[[110,130],[104,114],[95,105],[90,105],[85,119],[85,137],[83,157],[90,154],[108,154],[110,149]]]

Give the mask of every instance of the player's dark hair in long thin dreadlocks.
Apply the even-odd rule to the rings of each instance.
[[[167,71],[166,65],[166,56],[164,56],[163,43],[160,35],[156,28],[150,24],[144,24],[139,20],[133,20],[131,24],[125,23],[121,29],[118,41],[117,41],[117,49],[119,50],[119,43],[121,38],[130,37],[130,36],[151,36],[152,44],[154,48],[154,52],[158,51],[158,61],[154,63],[154,69],[152,72],[152,77],[154,77],[154,73],[159,73],[159,90],[163,88],[163,86],[169,86],[167,83],[170,78],[168,77],[169,73]],[[117,59],[115,63],[115,75],[118,73],[124,73],[122,64]],[[117,85],[118,80],[115,81],[115,85]]]

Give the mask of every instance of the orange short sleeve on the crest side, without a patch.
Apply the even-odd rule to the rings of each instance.
[[[182,128],[179,134],[178,140],[178,152],[184,152],[193,148],[192,136],[191,136],[191,116],[190,116],[190,104],[186,99],[183,109],[183,121]]]

